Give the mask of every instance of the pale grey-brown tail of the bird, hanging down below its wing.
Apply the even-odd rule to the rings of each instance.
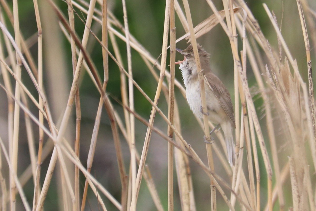
[[[225,124],[226,123],[226,124]],[[231,166],[235,165],[236,155],[235,155],[235,143],[233,138],[233,128],[230,122],[225,122],[221,124],[221,127],[224,132],[226,149],[228,155],[228,162]]]

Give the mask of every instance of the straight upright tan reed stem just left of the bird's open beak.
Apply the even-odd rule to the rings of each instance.
[[[170,79],[169,79],[169,98],[168,98],[168,120],[173,124],[174,116],[174,74],[176,59],[176,28],[174,22],[174,0],[170,1]],[[168,125],[167,134],[173,139],[173,130]],[[168,142],[168,211],[173,211],[173,145]]]

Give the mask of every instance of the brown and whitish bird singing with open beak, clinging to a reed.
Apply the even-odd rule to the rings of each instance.
[[[207,53],[199,44],[197,44],[197,49],[205,84],[206,115],[208,115],[211,122],[217,124],[210,133],[219,126],[222,128],[226,141],[228,162],[233,166],[236,160],[233,128],[236,128],[236,124],[232,100],[225,85],[210,68],[210,53]],[[193,114],[202,119],[204,113],[202,111],[200,83],[192,44],[184,50],[179,48],[176,48],[176,50],[184,56],[182,61],[175,62],[175,64],[179,64],[181,70],[187,102]],[[210,143],[205,139],[204,141]]]

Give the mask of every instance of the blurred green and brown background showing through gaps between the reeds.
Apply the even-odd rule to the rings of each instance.
[[[55,1],[58,7],[63,11],[64,16],[68,17],[67,12],[67,4],[64,1],[57,0]],[[212,15],[212,11],[206,1],[203,0],[194,0],[189,1],[190,9],[193,19],[193,24],[197,25],[199,22],[203,21],[210,15]],[[218,10],[223,9],[221,1],[214,1]],[[301,74],[303,75],[304,79],[307,79],[307,68],[306,68],[306,53],[305,53],[305,46],[303,42],[303,35],[301,32],[301,25],[297,11],[297,5],[295,0],[291,1],[276,1],[276,0],[249,0],[246,2],[248,7],[251,9],[252,13],[258,20],[260,27],[269,40],[270,45],[273,49],[277,50],[277,37],[276,33],[273,30],[270,20],[266,15],[262,3],[266,3],[270,9],[270,11],[274,11],[276,14],[276,18],[278,22],[281,22],[282,19],[282,32],[286,43],[289,46],[290,51],[292,52],[292,56],[297,59],[297,63],[299,65],[299,69],[301,70]],[[311,8],[315,10],[316,2],[310,0],[309,1]],[[12,8],[12,2],[9,2]],[[43,2],[39,2],[39,6],[42,7]],[[145,47],[153,57],[157,58],[160,62],[161,59],[159,55],[161,53],[162,48],[162,33],[163,33],[163,24],[164,24],[164,12],[165,12],[165,1],[149,1],[149,0],[127,0],[127,13],[128,13],[128,22],[129,22],[129,29],[131,34]],[[182,7],[182,2],[180,2]],[[122,2],[117,0],[109,0],[108,6],[112,13],[118,18],[118,20],[123,24],[123,9],[122,9]],[[283,10],[284,7],[284,10]],[[97,4],[96,8],[100,9],[100,5]],[[182,7],[183,8],[183,7]],[[81,17],[82,19],[86,18],[86,15],[83,14],[79,9],[76,9],[75,14],[75,27],[76,33],[80,38],[82,38],[84,24],[78,18]],[[44,12],[43,9],[40,9],[40,12]],[[283,14],[283,17],[282,17]],[[43,15],[43,14],[41,14]],[[4,15],[6,21],[9,25],[9,21],[6,15]],[[36,19],[34,15],[34,8],[33,8],[33,1],[19,1],[19,20],[20,20],[20,28],[21,33],[27,39],[28,37],[32,36],[33,34],[37,33],[37,25]],[[42,23],[43,24],[43,23]],[[49,26],[48,26],[49,27]],[[94,33],[100,38],[100,25],[99,23],[93,21],[91,29]],[[9,28],[11,34],[14,34],[13,28]],[[57,31],[56,33],[60,33]],[[181,26],[181,23],[176,16],[176,37],[179,38],[184,34],[184,30]],[[64,93],[59,93],[60,95],[68,96],[70,85],[72,83],[72,64],[71,64],[71,50],[70,44],[64,37],[64,35],[60,35],[61,43],[63,46],[62,53],[64,56],[64,61],[66,62],[66,66],[64,66],[64,76],[66,77],[67,84],[62,84],[65,87]],[[3,39],[3,38],[2,38]],[[44,49],[46,48],[46,31],[45,27],[43,26],[43,39],[44,39]],[[118,40],[118,44],[120,47],[120,51],[123,57],[125,68],[127,69],[127,56],[126,56],[126,44],[122,40]],[[205,50],[207,50],[211,54],[211,67],[216,75],[223,81],[223,83],[227,86],[228,90],[232,95],[232,100],[234,102],[234,74],[233,74],[233,58],[230,49],[229,40],[222,30],[220,25],[217,25],[213,28],[209,33],[205,34],[203,37],[197,40]],[[239,50],[241,50],[241,39],[240,34],[238,34],[238,41],[239,41]],[[49,42],[49,40],[48,40]],[[178,48],[184,49],[188,44],[183,40],[177,44]],[[91,55],[91,58],[94,61],[94,64],[103,79],[103,64],[102,64],[102,49],[100,45],[95,42],[94,37],[90,36],[88,42],[88,52]],[[113,52],[111,42],[109,41],[109,49]],[[34,44],[31,47],[31,52],[33,54],[33,58],[37,63],[37,44]],[[45,51],[44,51],[45,54]],[[313,55],[314,56],[314,55]],[[44,55],[45,58],[45,55]],[[314,58],[314,57],[313,57]],[[312,59],[313,59],[312,58]],[[177,54],[176,60],[182,60],[182,56]],[[58,63],[58,61],[56,61]],[[167,65],[169,64],[169,53],[167,56]],[[46,72],[46,60],[44,59],[44,86],[46,87],[47,91],[46,94],[48,96],[49,103],[53,103],[54,101],[51,98],[52,90],[54,90],[54,86],[59,86],[58,81],[50,81],[49,74]],[[252,74],[252,70],[250,65],[247,64],[247,77],[248,83],[250,86],[256,86],[256,82],[254,76]],[[153,100],[155,96],[155,90],[157,88],[157,83],[151,73],[149,72],[148,68],[144,64],[143,60],[139,56],[139,54],[132,50],[132,71],[133,77],[135,81],[142,87],[142,89],[148,94],[148,96]],[[159,74],[159,71],[157,70]],[[37,96],[37,92],[35,88],[32,86],[31,81],[29,80],[27,73],[24,71],[22,73],[23,81],[27,84],[27,87],[32,91],[34,96]],[[180,71],[178,71],[178,66],[176,66],[176,79],[182,83],[182,77]],[[50,82],[49,82],[50,81]],[[307,80],[306,80],[307,81]],[[46,83],[47,82],[47,83]],[[1,83],[3,83],[3,79],[1,78]],[[48,85],[51,83],[51,85]],[[12,84],[14,84],[14,80],[12,80]],[[48,86],[51,86],[50,88]],[[135,110],[138,114],[140,114],[146,120],[149,119],[151,106],[149,102],[140,94],[140,92],[135,88]],[[123,118],[122,107],[120,105],[121,101],[121,92],[120,92],[120,78],[119,78],[119,68],[117,65],[109,58],[109,82],[107,85],[106,92],[109,94],[112,103],[115,106],[115,109],[119,112],[119,115]],[[7,101],[6,101],[6,94],[3,90],[0,90],[0,96],[3,99],[1,103],[1,119],[2,125],[0,132],[2,134],[3,140],[7,139],[7,127],[5,127],[5,122],[7,121]],[[203,142],[203,131],[201,128],[197,127],[197,121],[194,118],[193,114],[191,113],[186,100],[180,94],[179,90],[175,89],[175,96],[177,102],[179,104],[179,112],[181,116],[181,129],[183,132],[183,136],[185,140],[191,144],[191,146],[198,152],[198,155],[203,159],[204,162],[207,162],[205,146]],[[80,100],[81,100],[81,108],[82,108],[82,126],[81,126],[81,146],[80,146],[80,159],[82,164],[86,165],[87,162],[87,153],[90,146],[91,141],[91,134],[94,125],[94,119],[99,103],[100,94],[95,88],[94,84],[92,83],[91,79],[88,77],[86,71],[82,71],[82,84],[80,85]],[[116,99],[119,102],[116,102]],[[62,107],[65,108],[66,102],[61,102]],[[158,104],[159,108],[167,114],[167,103],[164,97],[161,95],[161,100]],[[262,106],[262,101],[257,100],[255,101],[255,106],[258,108],[258,115],[264,115],[263,112],[259,109]],[[33,113],[38,116],[38,110],[30,103],[31,110]],[[54,111],[54,121],[57,122],[60,116],[63,114],[63,109],[56,109],[51,106],[51,109]],[[74,111],[73,107],[73,111]],[[21,119],[23,119],[23,114],[21,115]],[[75,112],[73,112],[72,123],[69,125],[70,130],[70,137],[73,138],[75,128],[74,123],[76,121]],[[110,191],[117,200],[120,200],[120,180],[119,180],[119,172],[117,167],[116,155],[114,150],[114,145],[112,141],[112,133],[111,127],[109,124],[108,117],[106,112],[104,111],[102,114],[100,132],[98,136],[98,143],[97,148],[94,156],[94,163],[92,168],[92,175],[94,175],[100,183],[104,185],[106,189]],[[262,124],[264,125],[264,124]],[[38,128],[34,124],[34,136],[35,140],[38,140]],[[167,126],[162,121],[159,115],[156,115],[155,119],[155,126],[160,128],[161,130],[167,132]],[[19,145],[19,163],[18,163],[18,175],[20,175],[27,165],[30,163],[29,156],[28,156],[28,145],[26,137],[23,137],[23,133],[25,133],[25,129],[23,129],[23,125],[21,125],[20,131],[20,145]],[[145,133],[147,127],[145,127],[140,122],[136,121],[136,144],[138,152],[141,152],[143,141],[145,138]],[[264,126],[263,126],[264,128]],[[36,139],[37,137],[37,139]],[[46,137],[47,139],[47,137]],[[122,149],[125,156],[125,165],[126,169],[129,169],[129,148],[124,140],[123,136],[121,136],[122,140]],[[269,145],[269,143],[266,143]],[[280,143],[282,145],[282,143]],[[268,147],[269,148],[269,147]],[[288,154],[284,154],[280,156],[281,160],[287,159]],[[49,156],[50,157],[50,156]],[[41,180],[44,180],[45,172],[47,166],[49,164],[49,157],[48,159],[43,161],[42,164],[42,175]],[[259,158],[261,159],[261,157]],[[218,159],[215,158],[217,161],[215,169],[216,173],[220,176],[225,175],[223,168],[220,166]],[[281,161],[282,162],[282,161]],[[167,210],[167,142],[161,139],[158,135],[153,133],[151,138],[151,143],[149,146],[149,155],[147,157],[147,163],[149,165],[149,169],[152,171],[152,176],[157,185],[157,189],[159,191],[159,196],[163,203],[164,208]],[[3,168],[5,164],[3,164]],[[264,165],[263,165],[264,166]],[[201,170],[199,166],[195,163],[191,162],[192,168],[192,178],[193,178],[193,185],[195,190],[195,199],[197,210],[206,210],[210,207],[210,195],[209,195],[209,178],[206,174]],[[55,174],[57,172],[55,171]],[[81,174],[81,194],[82,189],[84,186],[84,177]],[[227,179],[227,178],[225,178]],[[176,181],[176,180],[175,180]],[[46,203],[45,203],[45,210],[58,210],[58,181],[53,180],[52,184],[49,188],[49,192],[47,195]],[[264,197],[266,196],[266,173],[264,168],[261,170],[261,191],[262,191],[262,206],[265,205],[267,199]],[[24,188],[27,199],[30,204],[33,201],[33,181],[29,180],[27,185]],[[178,194],[178,189],[175,183],[175,194]],[[93,194],[90,192],[89,194]],[[290,191],[290,189],[289,189]],[[205,194],[206,193],[206,194]],[[227,192],[228,193],[228,192]],[[286,192],[284,192],[286,194]],[[145,185],[142,183],[141,191],[138,200],[137,210],[155,210],[154,204],[151,198],[148,196],[149,191]],[[219,195],[219,194],[218,194]],[[291,195],[289,193],[286,201],[289,201],[291,204]],[[104,196],[102,196],[104,201],[106,202],[106,206],[108,210],[116,210],[113,205],[106,200]],[[19,206],[21,206],[21,201],[18,198]],[[225,207],[221,200],[218,201],[218,207]],[[262,207],[263,208],[263,207]],[[21,210],[23,208],[21,207]],[[86,205],[86,210],[98,210],[96,198],[94,196],[88,197],[88,202]],[[175,210],[180,210],[180,203],[179,198],[175,198]],[[287,207],[286,207],[287,210]]]

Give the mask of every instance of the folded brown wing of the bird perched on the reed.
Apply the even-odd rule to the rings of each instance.
[[[213,72],[205,73],[204,81],[213,91],[214,95],[217,97],[229,119],[233,122],[234,127],[236,128],[232,100],[230,99],[230,94],[222,81],[217,78],[217,76]]]

